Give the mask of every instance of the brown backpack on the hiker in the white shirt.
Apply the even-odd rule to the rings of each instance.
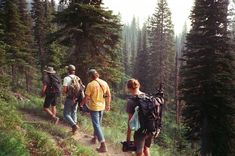
[[[72,99],[79,98],[79,100],[81,100],[81,96],[84,96],[84,85],[82,84],[81,79],[78,76],[69,77],[72,79],[72,81],[71,84],[68,86],[67,96]]]

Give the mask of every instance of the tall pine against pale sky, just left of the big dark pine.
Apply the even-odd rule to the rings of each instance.
[[[160,0],[151,18],[149,29],[150,57],[149,82],[150,92],[158,84],[164,83],[166,93],[173,95],[174,77],[174,31],[171,12],[166,0]]]

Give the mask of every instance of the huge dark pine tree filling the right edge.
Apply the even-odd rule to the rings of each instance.
[[[227,12],[227,0],[197,0],[183,55],[187,138],[200,141],[202,156],[227,156],[232,148],[234,49],[227,36]]]

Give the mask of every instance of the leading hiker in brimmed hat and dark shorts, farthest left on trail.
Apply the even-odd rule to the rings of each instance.
[[[56,116],[56,105],[59,102],[61,94],[60,88],[61,88],[61,80],[56,75],[56,71],[53,69],[53,67],[47,67],[44,70],[41,96],[42,97],[45,96],[45,101],[43,106],[44,111],[52,117],[55,124],[58,124],[59,122],[59,118]]]

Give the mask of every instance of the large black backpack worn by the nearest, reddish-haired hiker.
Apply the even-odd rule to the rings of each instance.
[[[141,94],[136,97],[139,106],[140,131],[154,133],[161,128],[162,100],[157,97]]]

